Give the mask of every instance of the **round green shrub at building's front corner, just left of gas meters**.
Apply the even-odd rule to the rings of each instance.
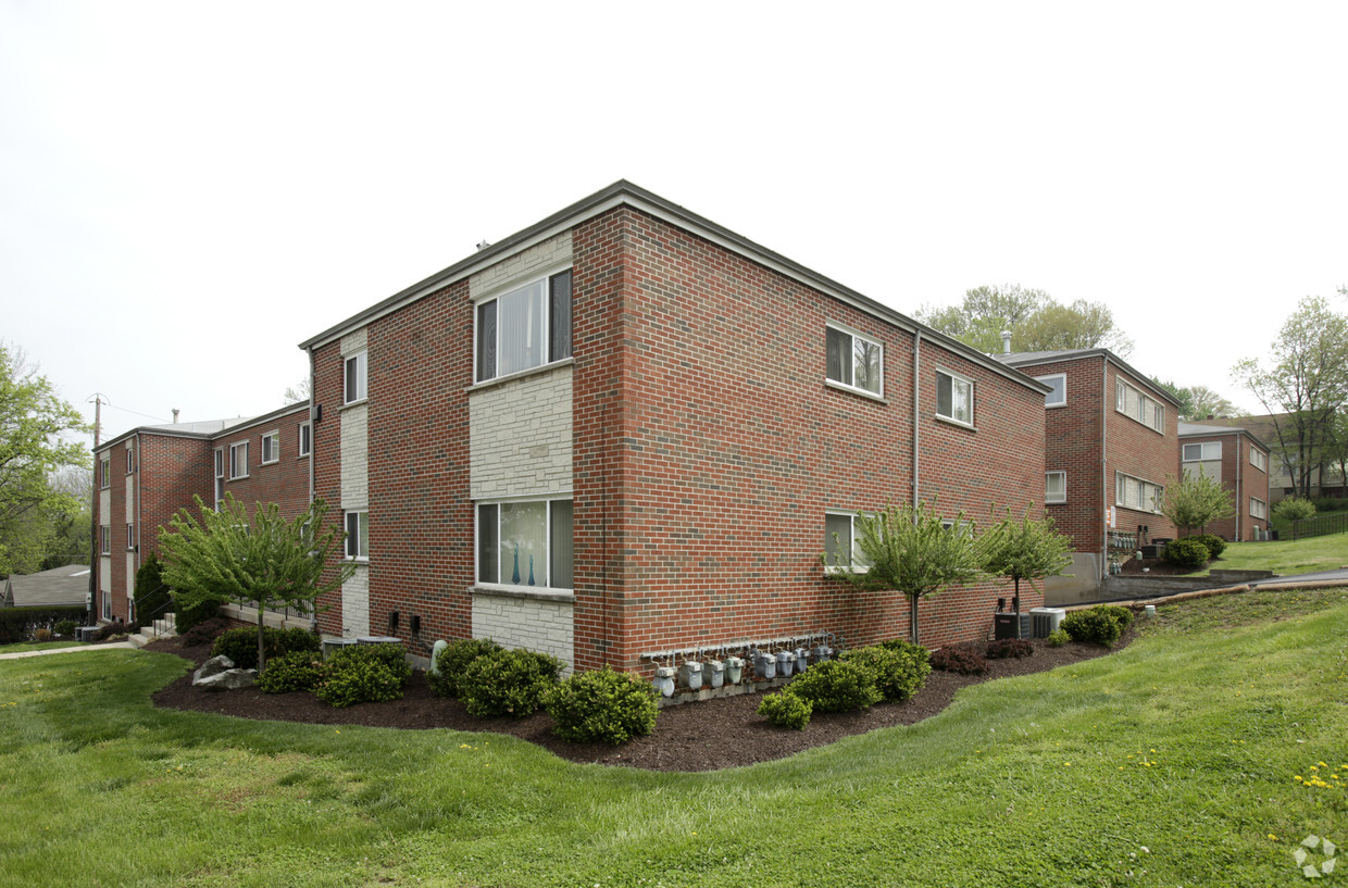
[[[553,733],[573,742],[627,742],[655,728],[659,691],[636,675],[609,667],[576,672],[543,695],[557,726]]]

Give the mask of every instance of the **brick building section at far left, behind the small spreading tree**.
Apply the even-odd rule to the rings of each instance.
[[[278,503],[298,515],[309,503],[309,404],[253,419],[142,426],[94,451],[98,526],[97,602],[101,620],[133,621],[136,570],[158,550],[159,527],[228,490],[249,505]],[[303,450],[301,445],[306,446]],[[253,612],[256,616],[256,612]]]

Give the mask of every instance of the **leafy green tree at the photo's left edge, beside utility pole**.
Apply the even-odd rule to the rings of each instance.
[[[92,465],[88,449],[71,439],[88,431],[47,377],[0,344],[0,574],[36,570],[55,534],[53,517],[84,511],[54,478],[67,466]]]

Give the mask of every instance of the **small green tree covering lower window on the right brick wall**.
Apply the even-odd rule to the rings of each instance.
[[[918,641],[918,601],[948,586],[981,575],[983,547],[972,521],[961,512],[942,519],[923,500],[917,507],[888,507],[875,515],[857,513],[853,523],[859,563],[834,554],[833,575],[859,589],[896,590],[909,598],[913,643]]]

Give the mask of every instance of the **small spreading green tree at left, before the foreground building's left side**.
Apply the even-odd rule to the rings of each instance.
[[[314,500],[287,521],[275,503],[248,509],[225,495],[220,511],[194,497],[201,520],[181,509],[159,528],[163,578],[185,606],[202,601],[237,601],[257,608],[257,668],[266,666],[263,610],[288,606],[301,613],[313,609],[322,596],[341,589],[356,567],[341,563],[334,574],[324,569],[345,534],[322,530],[328,504]]]

